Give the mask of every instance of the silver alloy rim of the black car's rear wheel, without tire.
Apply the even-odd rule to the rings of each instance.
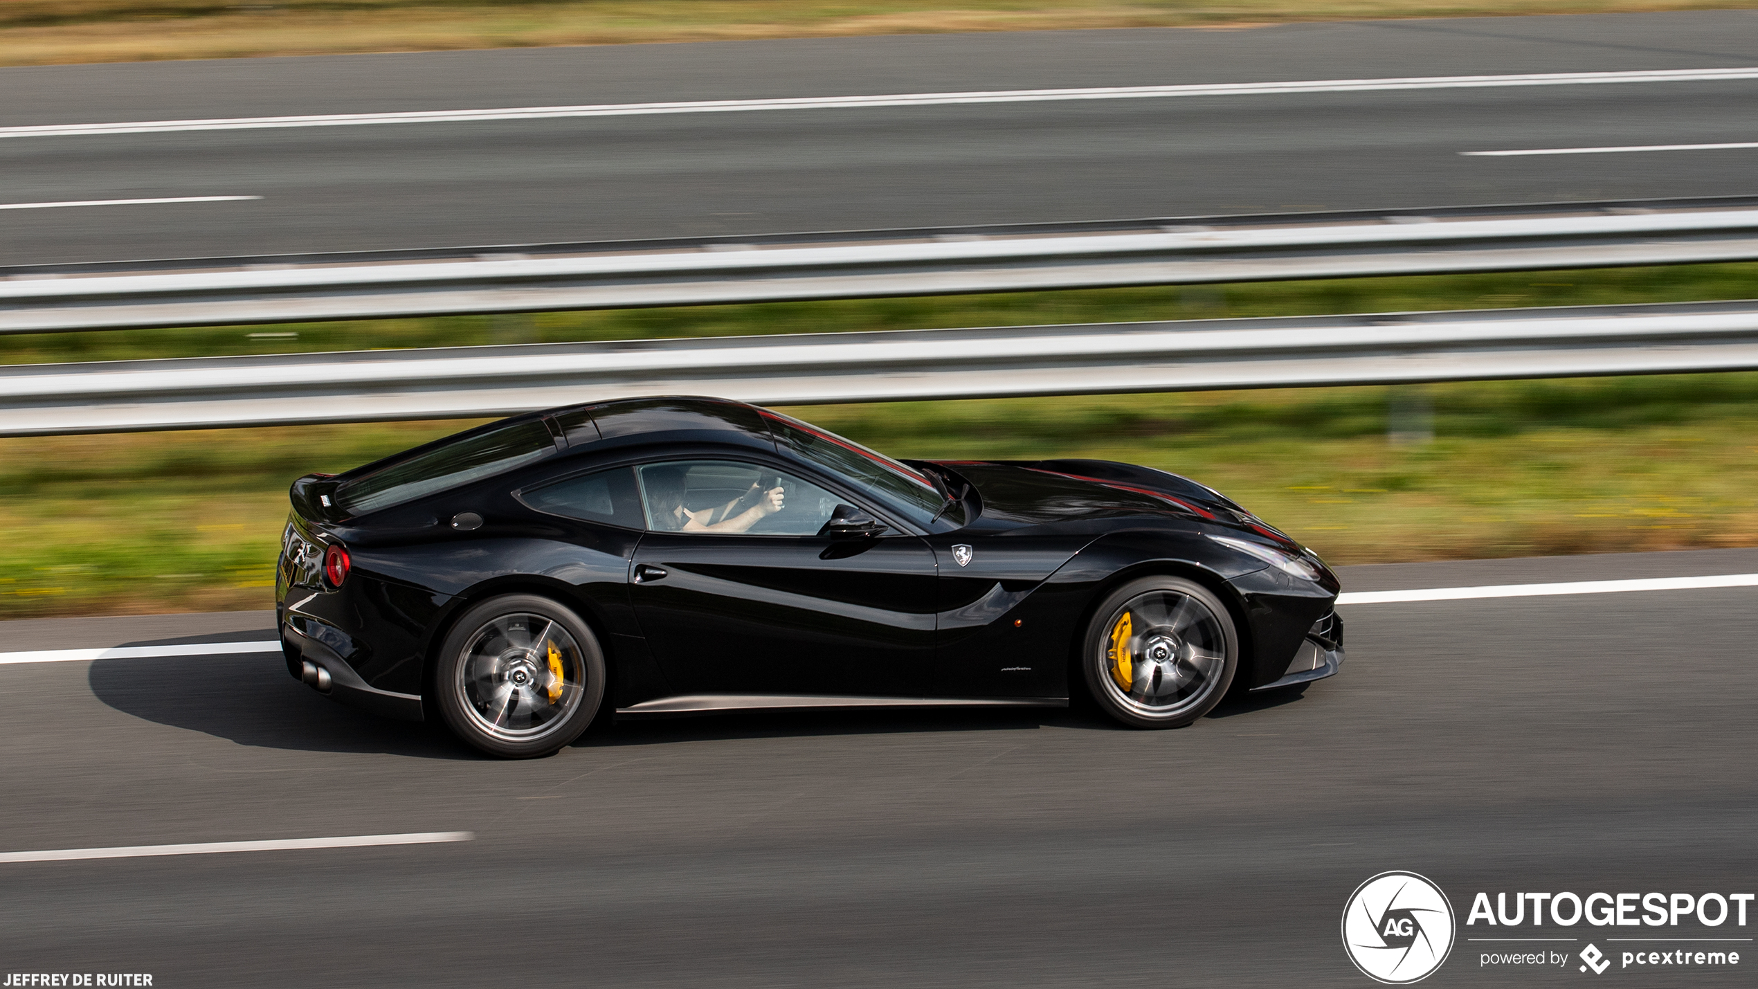
[[[585,694],[580,643],[554,618],[499,615],[464,643],[454,682],[478,731],[506,741],[536,741],[561,726]]]

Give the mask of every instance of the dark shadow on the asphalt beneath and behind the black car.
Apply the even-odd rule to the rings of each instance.
[[[244,639],[246,636],[239,636]],[[257,636],[262,638],[262,636]],[[214,641],[214,636],[128,645]],[[111,708],[239,745],[304,752],[374,752],[411,759],[482,759],[432,724],[355,711],[287,675],[280,653],[98,659],[91,694]],[[1210,718],[1276,708],[1299,690],[1229,697]],[[1086,704],[1072,708],[867,708],[817,711],[730,711],[701,717],[601,718],[575,747],[668,745],[735,738],[956,733],[1067,727],[1127,731]]]

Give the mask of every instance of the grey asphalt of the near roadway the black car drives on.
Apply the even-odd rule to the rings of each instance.
[[[1753,571],[1758,550],[1343,580]],[[334,706],[276,655],[0,666],[0,852],[476,834],[0,863],[0,971],[135,971],[160,989],[1369,985],[1338,940],[1343,903],[1412,870],[1461,919],[1429,984],[1582,978],[1480,968],[1464,938],[1493,931],[1463,926],[1470,899],[1758,887],[1754,601],[1355,606],[1340,676],[1171,733],[1069,711],[738,715],[615,726],[534,762]],[[130,627],[267,632],[260,615],[9,622],[0,652],[120,645]],[[1549,945],[1573,952],[1705,931],[1521,933],[1573,936]],[[1747,963],[1605,978],[1749,985]]]

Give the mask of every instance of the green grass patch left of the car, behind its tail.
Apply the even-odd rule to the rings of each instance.
[[[267,608],[294,478],[454,429],[0,439],[0,618]]]

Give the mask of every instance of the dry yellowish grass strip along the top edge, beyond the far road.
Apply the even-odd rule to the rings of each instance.
[[[0,65],[1758,7],[1758,0],[5,0]]]

